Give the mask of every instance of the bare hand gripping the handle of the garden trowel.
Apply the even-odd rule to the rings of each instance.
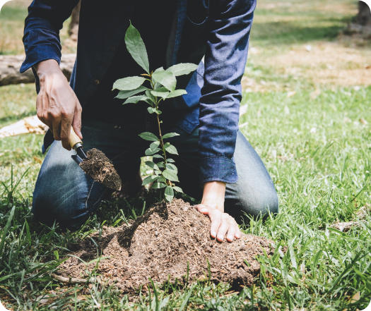
[[[40,80],[37,94],[37,117],[52,130],[54,140],[61,140],[66,150],[71,150],[69,133],[71,126],[79,138],[81,135],[81,104],[69,86],[57,61],[47,59],[35,65]]]

